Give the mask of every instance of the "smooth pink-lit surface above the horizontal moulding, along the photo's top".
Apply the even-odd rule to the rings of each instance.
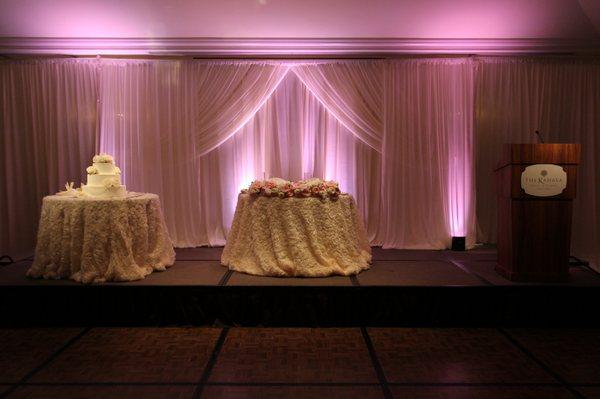
[[[98,39],[112,39],[108,47],[168,39],[164,47],[209,38],[238,44],[260,38],[280,44],[306,39],[314,45],[335,38],[338,43],[528,40],[595,46],[600,0],[0,0],[5,52],[11,45],[26,50],[24,43],[31,51],[50,48],[60,40],[65,52],[77,53],[73,43],[85,47],[81,43],[94,39],[96,47]]]

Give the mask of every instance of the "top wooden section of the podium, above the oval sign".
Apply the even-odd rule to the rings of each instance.
[[[504,144],[497,169],[513,164],[552,163],[577,165],[581,156],[580,144]]]

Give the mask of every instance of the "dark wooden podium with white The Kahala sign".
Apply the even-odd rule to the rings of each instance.
[[[495,169],[499,274],[513,281],[568,280],[580,152],[579,144],[504,145]]]

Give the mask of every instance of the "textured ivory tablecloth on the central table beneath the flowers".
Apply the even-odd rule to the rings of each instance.
[[[259,276],[348,276],[368,269],[371,247],[354,199],[240,194],[221,257]]]

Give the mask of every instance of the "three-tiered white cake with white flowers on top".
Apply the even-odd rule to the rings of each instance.
[[[108,154],[95,155],[92,166],[87,168],[87,184],[81,185],[84,194],[98,198],[124,197],[127,194],[121,184],[121,169]]]

